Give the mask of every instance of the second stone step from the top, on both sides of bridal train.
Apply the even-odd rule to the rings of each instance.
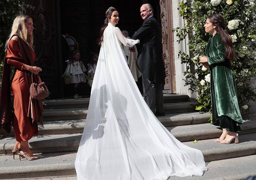
[[[176,102],[176,103],[165,103],[165,113],[186,113],[195,111],[197,102]],[[86,119],[88,108],[67,108],[67,109],[46,109],[43,112],[44,121],[54,120],[78,120]]]

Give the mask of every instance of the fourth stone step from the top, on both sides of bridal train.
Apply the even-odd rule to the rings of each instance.
[[[218,138],[222,131],[217,126],[211,124],[195,124],[184,126],[167,127],[167,129],[181,142],[193,142],[194,140],[207,140]],[[247,121],[241,126],[242,132],[239,134],[255,133],[256,121]],[[82,134],[44,134],[31,138],[30,148],[33,152],[61,152],[76,151],[79,146]],[[14,137],[0,138],[0,154],[11,153],[11,148],[15,144]],[[213,143],[213,142],[211,142]],[[255,142],[256,143],[256,142]]]

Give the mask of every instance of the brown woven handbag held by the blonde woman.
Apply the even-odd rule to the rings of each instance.
[[[39,84],[33,83],[33,68],[31,72],[32,84],[30,85],[30,97],[32,99],[44,99],[49,96],[49,91],[44,82],[41,81],[39,75],[37,78],[39,80]],[[35,79],[36,80],[36,79]]]

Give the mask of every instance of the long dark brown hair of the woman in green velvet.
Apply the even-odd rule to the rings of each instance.
[[[210,19],[212,26],[217,24],[215,30],[216,30],[216,33],[219,33],[221,35],[221,39],[222,39],[223,45],[225,47],[226,58],[229,60],[235,60],[236,54],[234,52],[232,38],[227,33],[226,23],[225,23],[224,18],[218,14],[210,15],[208,18]]]

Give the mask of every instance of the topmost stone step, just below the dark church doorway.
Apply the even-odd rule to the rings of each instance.
[[[176,94],[164,94],[164,103],[174,103],[174,102],[186,102],[191,101],[188,95],[176,95]],[[65,109],[65,108],[79,108],[88,107],[90,98],[57,98],[57,99],[46,99],[43,101],[45,109]]]

